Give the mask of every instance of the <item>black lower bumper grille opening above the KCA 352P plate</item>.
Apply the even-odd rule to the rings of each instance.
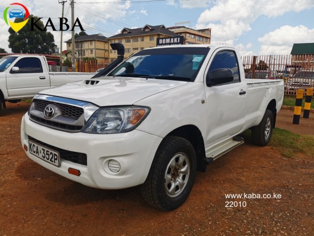
[[[40,145],[43,145],[45,147],[51,148],[52,150],[58,151],[60,153],[60,158],[63,160],[67,160],[70,162],[74,162],[80,165],[87,166],[87,155],[85,153],[80,152],[74,152],[74,151],[68,151],[65,149],[57,148],[52,145],[46,144],[44,142],[41,142],[39,140],[34,139],[31,136],[28,136],[28,139],[31,141],[34,141]]]

